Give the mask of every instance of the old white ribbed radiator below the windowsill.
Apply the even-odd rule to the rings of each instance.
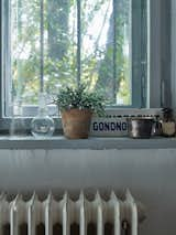
[[[109,200],[103,200],[97,192],[92,201],[87,200],[84,192],[77,201],[73,201],[68,193],[59,201],[52,193],[44,201],[40,201],[35,193],[30,201],[24,201],[20,194],[12,201],[4,193],[0,196],[0,235],[3,235],[7,224],[10,235],[20,235],[21,224],[26,224],[28,235],[37,235],[36,226],[40,224],[44,225],[45,235],[53,235],[55,224],[62,225],[62,235],[70,234],[72,224],[78,224],[79,235],[87,235],[90,223],[96,225],[97,235],[105,234],[106,223],[112,224],[114,235],[136,235],[139,217],[143,214],[130,191],[124,200],[118,199],[114,192]]]

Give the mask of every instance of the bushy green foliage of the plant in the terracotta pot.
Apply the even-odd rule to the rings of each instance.
[[[78,108],[90,109],[98,116],[102,116],[105,114],[103,96],[96,92],[88,92],[86,86],[82,84],[76,88],[69,86],[61,88],[54,103],[62,111]]]

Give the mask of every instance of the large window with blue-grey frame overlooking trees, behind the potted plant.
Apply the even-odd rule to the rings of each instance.
[[[85,82],[110,107],[145,107],[146,0],[44,0],[44,77],[41,67],[41,0],[1,0],[3,115],[12,100],[28,111],[40,86],[51,96]]]

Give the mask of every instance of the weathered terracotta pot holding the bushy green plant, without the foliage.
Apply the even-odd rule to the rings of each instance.
[[[87,139],[92,111],[89,109],[73,108],[62,111],[64,135],[68,139]]]

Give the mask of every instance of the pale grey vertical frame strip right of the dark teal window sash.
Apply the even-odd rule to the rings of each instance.
[[[148,0],[148,94],[147,107],[161,107],[161,0]],[[152,54],[152,56],[151,56]],[[156,88],[157,87],[157,88]]]

